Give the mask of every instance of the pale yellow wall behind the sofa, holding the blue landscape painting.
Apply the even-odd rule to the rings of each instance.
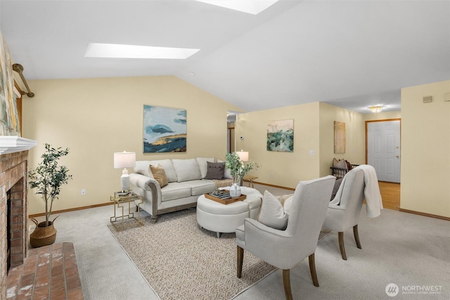
[[[30,168],[44,143],[70,148],[61,160],[73,180],[63,186],[53,210],[109,202],[120,190],[113,152],[136,152],[137,159],[222,157],[226,153],[226,111],[239,110],[176,77],[129,77],[30,81],[34,98],[23,101],[23,137],[37,140]],[[187,110],[187,152],[143,154],[143,105]],[[132,171],[131,169],[129,170]],[[81,195],[82,188],[86,195]],[[44,202],[29,190],[30,214]]]

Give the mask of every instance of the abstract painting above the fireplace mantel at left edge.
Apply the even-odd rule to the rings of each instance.
[[[13,65],[8,46],[0,32],[0,136],[20,136],[15,103]]]

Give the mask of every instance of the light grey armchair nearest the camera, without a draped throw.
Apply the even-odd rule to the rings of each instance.
[[[238,278],[242,275],[244,249],[246,249],[272,266],[283,269],[286,299],[292,299],[290,268],[307,256],[309,256],[312,280],[314,285],[319,287],[314,252],[334,182],[334,176],[300,181],[295,188],[293,202],[290,204],[288,226],[285,230],[277,230],[256,220],[245,219],[244,225],[236,229]]]

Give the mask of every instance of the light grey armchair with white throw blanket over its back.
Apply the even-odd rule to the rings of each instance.
[[[347,261],[344,247],[344,231],[353,227],[356,247],[361,249],[358,235],[359,215],[364,200],[364,171],[356,168],[345,174],[335,198],[328,204],[323,227],[338,231],[342,259]]]

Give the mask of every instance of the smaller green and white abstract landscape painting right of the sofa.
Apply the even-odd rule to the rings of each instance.
[[[286,119],[267,123],[267,150],[294,151],[294,120]]]

